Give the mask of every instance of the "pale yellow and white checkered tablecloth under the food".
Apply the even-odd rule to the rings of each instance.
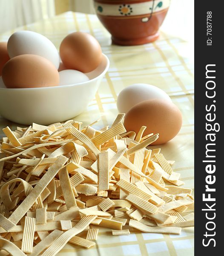
[[[95,15],[73,12],[16,30],[24,29],[45,35],[57,48],[62,39],[74,31],[90,33],[100,42],[103,52],[109,57],[110,68],[88,109],[75,117],[84,125],[100,117],[96,128],[111,125],[118,113],[117,96],[130,84],[153,84],[168,93],[183,114],[183,126],[172,141],[161,145],[161,151],[168,160],[176,161],[173,170],[181,173],[184,187],[194,187],[194,80],[192,50],[187,42],[161,32],[159,40],[152,44],[130,47],[111,45],[109,33]],[[0,41],[6,41],[14,31],[0,35]],[[7,125],[16,128],[16,124],[0,117],[0,128]],[[2,131],[0,136],[3,136]],[[193,238],[193,228],[183,229],[180,236],[133,232],[129,236],[112,236],[109,229],[101,229],[95,247],[85,250],[67,244],[57,255],[192,256]]]

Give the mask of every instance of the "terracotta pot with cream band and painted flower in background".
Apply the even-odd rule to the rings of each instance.
[[[170,0],[94,0],[95,11],[120,45],[155,41],[169,9]]]

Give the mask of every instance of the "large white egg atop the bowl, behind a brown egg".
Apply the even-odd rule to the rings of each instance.
[[[40,55],[51,61],[56,69],[60,64],[60,57],[55,45],[45,36],[33,31],[17,31],[9,38],[7,49],[9,57],[22,54]]]

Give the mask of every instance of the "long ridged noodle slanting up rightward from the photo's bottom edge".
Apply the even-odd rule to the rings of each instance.
[[[64,232],[59,238],[57,238],[53,244],[42,254],[42,256],[56,255],[73,236],[81,233],[95,218],[96,216],[83,217],[75,227]]]

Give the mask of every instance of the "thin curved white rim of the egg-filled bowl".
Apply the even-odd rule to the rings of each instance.
[[[105,69],[98,76],[96,76],[95,78],[90,79],[88,81],[77,83],[77,84],[67,84],[67,85],[48,86],[48,87],[33,87],[33,88],[1,88],[0,87],[0,90],[7,90],[7,91],[13,91],[13,90],[14,91],[20,91],[20,90],[23,90],[23,91],[24,90],[46,90],[46,89],[53,90],[54,88],[62,88],[62,87],[63,88],[67,88],[67,87],[72,87],[72,86],[79,86],[79,85],[83,85],[83,84],[88,84],[88,83],[90,83],[92,81],[98,80],[99,76],[105,75],[105,73],[109,69],[109,64],[110,64],[109,58],[104,53],[102,53],[102,55],[106,59],[106,67],[105,67]]]

